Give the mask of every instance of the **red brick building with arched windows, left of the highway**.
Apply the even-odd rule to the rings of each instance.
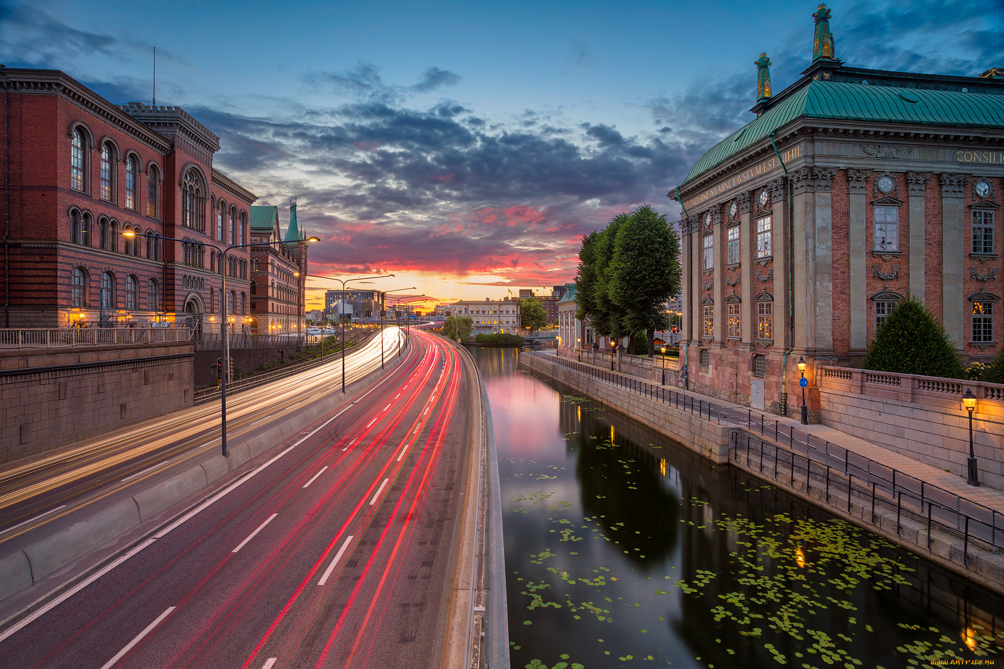
[[[0,87],[3,327],[218,330],[226,273],[240,331],[250,254],[221,262],[216,247],[248,243],[256,197],[213,168],[219,137],[181,107],[112,104],[58,70],[0,67]]]

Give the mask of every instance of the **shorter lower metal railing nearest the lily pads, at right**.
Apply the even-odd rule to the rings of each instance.
[[[844,452],[860,457],[849,451]],[[898,476],[896,469],[890,469],[893,477],[887,479],[883,473],[859,468],[859,463],[844,461],[834,466],[812,454],[799,453],[748,432],[733,430],[729,459],[742,462],[744,455],[747,468],[756,468],[764,476],[787,482],[790,487],[795,487],[796,483],[800,485],[804,480],[806,493],[810,494],[815,486],[827,504],[830,504],[831,490],[842,491],[846,495],[848,514],[854,499],[865,510],[870,506],[870,523],[876,527],[876,510],[896,511],[897,535],[903,529],[906,516],[927,528],[929,551],[932,528],[957,533],[963,539],[963,564],[968,565],[970,540],[978,540],[996,549],[1004,548],[1004,535],[997,536],[997,511],[906,476],[902,471]],[[861,519],[867,520],[868,517],[862,513]],[[1000,529],[1004,530],[1004,527]]]

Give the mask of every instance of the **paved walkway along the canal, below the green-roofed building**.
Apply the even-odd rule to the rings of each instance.
[[[562,356],[563,357],[563,356]],[[565,359],[565,358],[563,358]],[[574,360],[573,360],[574,362]],[[590,365],[588,363],[579,363],[587,367],[592,367],[594,369],[599,369],[603,371],[609,371],[606,367],[600,367],[597,365]],[[631,376],[624,372],[619,372],[624,376]],[[637,377],[635,377],[637,378]],[[648,379],[643,379],[648,383],[653,385],[659,385]],[[890,450],[885,446],[881,446],[876,443],[866,441],[856,436],[842,432],[835,427],[828,427],[826,425],[802,425],[799,420],[794,418],[788,418],[785,416],[779,416],[774,413],[768,413],[766,411],[758,411],[757,409],[751,409],[748,406],[741,406],[739,404],[733,404],[732,402],[727,402],[717,397],[711,397],[710,395],[704,395],[699,392],[694,392],[693,390],[684,391],[676,386],[666,385],[662,386],[673,390],[675,392],[689,395],[695,399],[702,400],[705,402],[710,402],[712,404],[717,404],[721,407],[734,408],[741,410],[743,412],[749,411],[754,419],[756,416],[764,416],[765,418],[774,421],[777,420],[783,425],[794,426],[796,429],[800,429],[807,432],[820,439],[825,439],[830,443],[833,443],[841,448],[845,448],[852,453],[856,453],[863,457],[868,457],[876,462],[885,464],[888,467],[902,471],[910,476],[913,476],[919,480],[923,480],[926,483],[932,485],[938,485],[953,494],[957,494],[960,497],[964,497],[971,501],[979,505],[983,505],[988,509],[993,509],[1001,514],[1004,514],[1004,491],[997,490],[992,487],[980,486],[976,487],[973,485],[966,484],[966,479],[958,476],[954,473],[945,471],[944,469],[939,469],[931,464],[926,464],[915,460],[914,458],[900,454],[896,451]]]

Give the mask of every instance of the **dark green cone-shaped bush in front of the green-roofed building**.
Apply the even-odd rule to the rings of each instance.
[[[913,295],[883,321],[861,366],[898,374],[966,378],[945,326]]]

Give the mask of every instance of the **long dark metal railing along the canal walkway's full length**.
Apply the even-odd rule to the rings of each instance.
[[[754,414],[751,409],[743,410],[740,407],[705,402],[664,386],[647,383],[617,372],[596,369],[558,356],[549,356],[549,358],[554,359],[559,365],[584,372],[586,375],[606,383],[626,388],[656,401],[672,404],[678,409],[690,410],[691,413],[698,416],[707,416],[708,420],[715,420],[718,423],[725,422],[752,432],[759,430],[761,436],[771,437],[774,441],[781,443],[784,448],[783,452],[791,453],[791,461],[802,457],[817,463],[819,467],[825,467],[827,480],[830,470],[839,471],[849,479],[856,478],[858,481],[870,485],[873,488],[872,493],[884,492],[889,494],[891,498],[896,498],[901,510],[903,500],[906,498],[908,508],[912,509],[912,505],[916,505],[918,513],[922,515],[927,509],[926,513],[932,517],[932,522],[944,525],[951,521],[957,532],[964,533],[967,543],[970,537],[975,536],[992,546],[1004,548],[1004,535],[1000,538],[997,537],[997,517],[1002,516],[1000,529],[1004,530],[1004,515],[951,490],[847,450],[843,446],[820,439],[789,423],[768,418],[761,413]],[[732,441],[735,442],[734,439]],[[785,442],[787,442],[786,445]],[[775,444],[767,445],[774,446]],[[807,466],[811,467],[811,464]],[[971,526],[983,528],[985,532],[974,535]]]

